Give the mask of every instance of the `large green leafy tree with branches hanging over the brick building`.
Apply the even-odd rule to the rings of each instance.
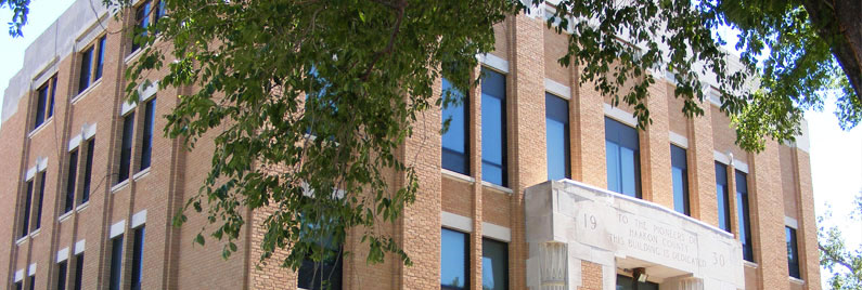
[[[321,240],[343,241],[352,227],[364,230],[370,262],[393,252],[410,264],[377,230],[417,190],[399,146],[420,114],[461,102],[434,94],[435,80],[477,84],[475,55],[493,50],[494,24],[543,11],[538,0],[164,1],[168,16],[133,31],[145,49],[127,70],[126,92],[137,100],[152,81],[146,71],[163,67],[159,87],[194,89],[168,115],[166,133],[189,146],[218,135],[208,179],[188,207],[206,210],[213,236],[229,240],[245,224],[241,209],[274,207],[261,259],[291,248],[284,265],[294,268],[309,254],[320,261]],[[0,0],[13,11],[12,35],[21,35],[27,3]],[[580,83],[614,105],[632,106],[640,128],[649,123],[645,101],[657,74],[672,74],[687,117],[703,114],[709,88],[700,80],[712,75],[737,144],[758,151],[764,137],[793,141],[802,113],[828,93],[839,95],[844,128],[862,119],[859,5],[563,0],[546,24],[571,32],[561,64],[577,66]],[[713,31],[722,27],[741,31],[742,69],[720,49]],[[391,172],[403,179],[391,183]],[[233,250],[231,242],[224,254]]]

